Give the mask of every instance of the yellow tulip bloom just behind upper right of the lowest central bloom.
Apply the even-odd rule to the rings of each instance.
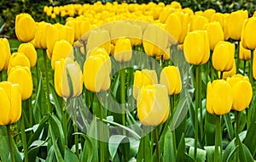
[[[165,67],[160,74],[160,84],[167,87],[169,95],[180,93],[182,82],[178,68],[175,66]]]

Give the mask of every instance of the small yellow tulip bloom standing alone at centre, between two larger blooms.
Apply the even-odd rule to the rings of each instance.
[[[113,58],[119,62],[130,61],[132,57],[131,41],[122,37],[115,42]]]

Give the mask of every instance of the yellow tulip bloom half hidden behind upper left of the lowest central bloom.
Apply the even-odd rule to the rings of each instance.
[[[157,84],[155,70],[137,70],[133,82],[133,98],[137,99],[138,92],[143,86]]]

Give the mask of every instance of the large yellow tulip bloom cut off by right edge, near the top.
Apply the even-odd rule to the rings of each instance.
[[[256,17],[244,21],[241,30],[241,44],[243,47],[251,50],[256,48],[255,29]]]

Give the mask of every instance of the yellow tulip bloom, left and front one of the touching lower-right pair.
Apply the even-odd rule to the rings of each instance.
[[[233,94],[230,83],[215,80],[207,84],[207,111],[212,115],[225,115],[232,109]]]

